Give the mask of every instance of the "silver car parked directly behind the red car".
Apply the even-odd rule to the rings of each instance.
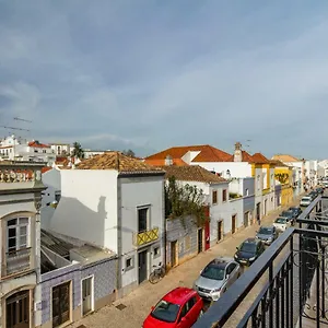
[[[233,258],[215,258],[200,272],[194,283],[194,289],[201,297],[208,301],[218,301],[243,272],[243,267]]]

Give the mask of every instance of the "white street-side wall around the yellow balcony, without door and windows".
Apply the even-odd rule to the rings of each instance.
[[[149,230],[159,227],[159,241],[153,244],[148,255],[148,274],[152,266],[164,263],[164,176],[119,178],[121,256],[122,268],[128,257],[133,257],[134,269],[122,272],[122,286],[138,281],[138,253],[132,244],[138,232],[138,208],[149,208]],[[161,256],[154,258],[152,249],[161,248]]]

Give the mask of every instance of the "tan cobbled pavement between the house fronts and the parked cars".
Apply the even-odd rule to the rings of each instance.
[[[288,207],[281,207],[280,209],[272,211],[268,216],[261,220],[261,224],[271,224],[285,208],[297,206],[302,196],[297,197]],[[233,257],[236,247],[239,246],[245,238],[255,236],[258,227],[259,225],[255,223],[233,234],[231,237],[224,239],[209,250],[201,253],[189,261],[172,269],[157,284],[145,282],[134,292],[116,301],[112,306],[103,307],[98,312],[72,324],[70,327],[78,328],[80,325],[84,325],[86,328],[141,327],[144,318],[150,313],[151,306],[155,305],[165,293],[179,285],[191,288],[194,281],[198,278],[200,270],[209,261],[218,256]],[[119,304],[122,304],[126,307],[120,311],[116,307]]]

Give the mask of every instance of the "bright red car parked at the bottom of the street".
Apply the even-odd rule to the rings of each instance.
[[[167,293],[143,321],[143,328],[190,328],[202,315],[202,298],[196,291],[177,288]]]

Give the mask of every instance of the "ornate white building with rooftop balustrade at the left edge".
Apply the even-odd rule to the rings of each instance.
[[[0,327],[40,323],[40,164],[0,162]]]

